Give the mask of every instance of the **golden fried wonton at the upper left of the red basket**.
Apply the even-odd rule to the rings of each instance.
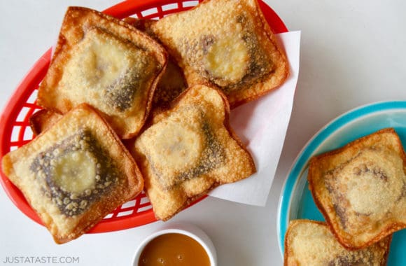
[[[167,52],[131,25],[88,8],[65,15],[38,104],[66,113],[87,103],[102,111],[119,137],[144,125]]]

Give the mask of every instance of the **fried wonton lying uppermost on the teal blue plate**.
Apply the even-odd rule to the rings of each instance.
[[[309,189],[343,246],[363,248],[406,228],[405,167],[391,128],[311,158]]]

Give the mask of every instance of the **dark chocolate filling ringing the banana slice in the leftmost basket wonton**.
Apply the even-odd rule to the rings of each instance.
[[[57,151],[57,152],[56,152]],[[57,185],[55,181],[55,162],[58,158],[69,155],[74,151],[87,151],[95,159],[96,176],[86,176],[94,179],[92,188],[81,193],[72,193]],[[80,130],[77,134],[64,139],[60,144],[48,148],[39,153],[30,166],[35,173],[36,179],[44,179],[43,192],[50,197],[59,211],[66,216],[76,216],[88,209],[92,202],[101,197],[103,193],[110,190],[118,183],[118,169],[113,160],[109,157],[108,151],[104,151],[92,133],[87,130]],[[75,169],[71,169],[75,171]]]

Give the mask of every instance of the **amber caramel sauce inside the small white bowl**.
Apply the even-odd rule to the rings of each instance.
[[[210,266],[209,256],[195,239],[170,233],[152,239],[139,257],[139,266]]]

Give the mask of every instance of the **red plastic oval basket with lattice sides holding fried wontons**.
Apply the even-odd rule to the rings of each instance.
[[[193,8],[193,6],[196,6],[200,1],[130,0],[111,6],[111,8],[104,10],[104,13],[120,19],[129,16],[134,18],[159,19],[171,13]],[[274,33],[277,34],[288,31],[272,8],[269,8],[269,6],[262,1],[259,1],[259,4],[262,13],[264,13]],[[0,157],[3,157],[3,155],[9,151],[13,151],[27,144],[34,137],[29,127],[29,117],[35,111],[41,109],[41,107],[36,105],[36,94],[38,84],[41,83],[41,80],[48,70],[50,57],[51,49],[45,52],[34,66],[32,66],[27,76],[25,76],[13,96],[9,99],[8,104],[6,104],[0,120]],[[0,174],[1,185],[15,206],[32,220],[42,224],[40,218],[35,211],[31,209],[20,190],[8,180],[3,172],[0,172]],[[156,221],[156,219],[151,204],[143,192],[134,200],[123,204],[106,216],[90,230],[90,232],[123,230],[154,221]]]

